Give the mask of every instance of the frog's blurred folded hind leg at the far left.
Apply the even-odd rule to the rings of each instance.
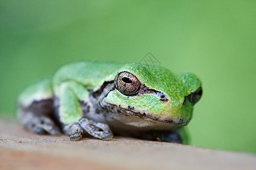
[[[53,94],[51,78],[46,77],[31,83],[18,98],[17,117],[21,124],[38,134],[56,135],[59,128],[52,120]]]

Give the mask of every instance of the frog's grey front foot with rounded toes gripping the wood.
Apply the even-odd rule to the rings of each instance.
[[[76,122],[64,126],[64,133],[69,134],[71,141],[78,141],[84,130],[95,138],[108,141],[113,138],[113,133],[107,124],[94,122],[87,118],[81,118]]]

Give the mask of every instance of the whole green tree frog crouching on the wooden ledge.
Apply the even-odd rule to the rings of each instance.
[[[110,140],[113,133],[181,143],[180,128],[192,118],[202,95],[200,79],[160,66],[81,60],[27,86],[17,117],[38,134],[88,133]]]

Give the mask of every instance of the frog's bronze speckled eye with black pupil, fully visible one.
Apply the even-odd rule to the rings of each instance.
[[[139,91],[141,82],[133,74],[123,71],[117,76],[117,89],[124,95],[134,95]]]

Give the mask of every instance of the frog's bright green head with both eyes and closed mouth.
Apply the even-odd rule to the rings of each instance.
[[[176,126],[188,124],[193,105],[202,95],[201,82],[195,74],[175,74],[164,67],[139,63],[122,67],[115,76],[114,87],[104,101],[117,111]]]

